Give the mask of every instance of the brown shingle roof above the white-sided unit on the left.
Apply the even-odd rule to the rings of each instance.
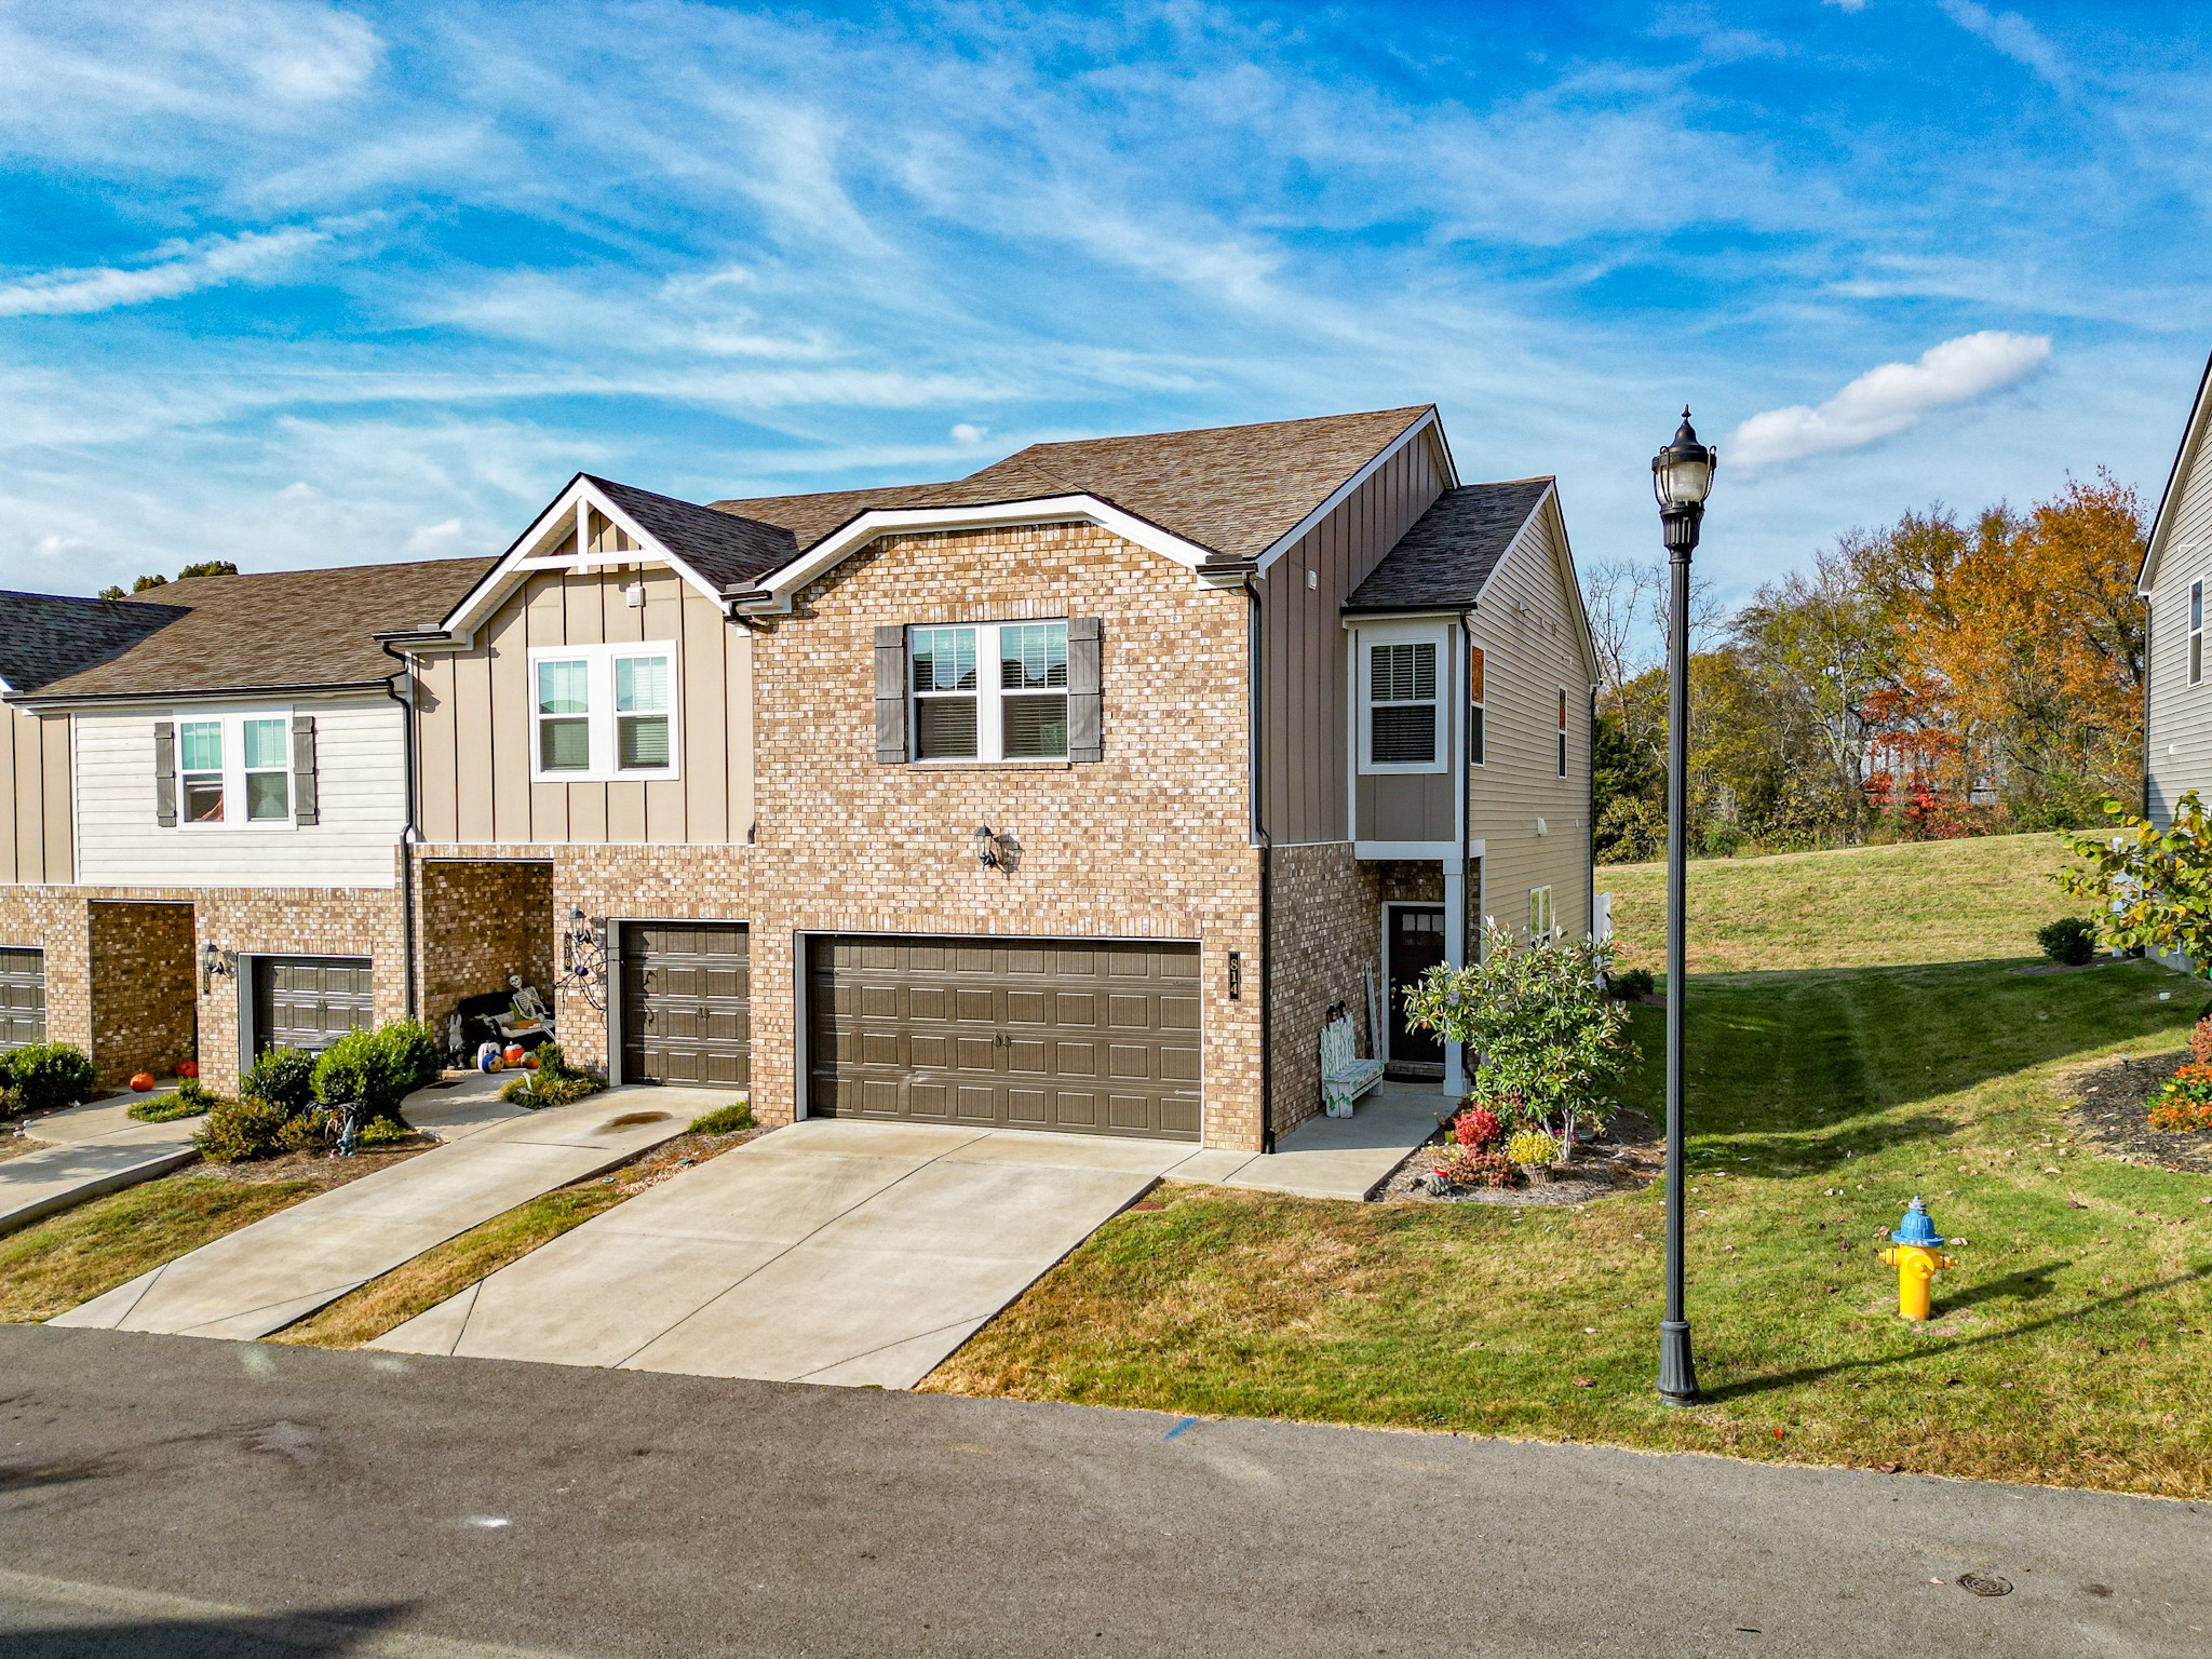
[[[155,630],[46,681],[35,701],[378,686],[400,666],[376,633],[436,619],[491,564],[420,560],[170,582],[148,599],[115,602],[161,613]]]

